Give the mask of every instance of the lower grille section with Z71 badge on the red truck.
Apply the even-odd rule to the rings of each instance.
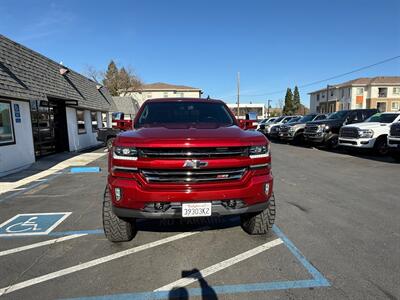
[[[246,168],[235,169],[204,169],[204,170],[167,170],[147,169],[140,171],[147,182],[189,183],[189,182],[218,182],[239,180]]]

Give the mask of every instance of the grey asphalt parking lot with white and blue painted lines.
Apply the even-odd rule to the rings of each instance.
[[[88,164],[100,172],[65,168],[0,195],[4,299],[400,297],[398,164],[274,144],[273,236],[245,234],[236,217],[140,221],[133,241],[112,244],[102,233],[102,151]],[[33,215],[10,219],[37,213],[70,214],[46,235],[10,235]]]

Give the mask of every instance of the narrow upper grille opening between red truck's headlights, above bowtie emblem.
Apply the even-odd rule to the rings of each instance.
[[[140,157],[149,158],[221,158],[248,156],[247,147],[216,148],[139,148]]]

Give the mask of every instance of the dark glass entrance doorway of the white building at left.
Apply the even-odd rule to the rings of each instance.
[[[62,100],[31,101],[35,156],[68,150],[65,104]]]

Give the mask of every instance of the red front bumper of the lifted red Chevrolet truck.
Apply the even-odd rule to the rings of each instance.
[[[265,193],[266,184],[269,185],[268,194]],[[121,217],[177,217],[180,214],[179,206],[189,202],[212,202],[212,211],[216,215],[230,215],[261,211],[272,195],[273,177],[269,172],[249,170],[241,180],[231,182],[171,185],[146,184],[134,178],[110,175],[108,187],[111,191],[114,211]],[[121,190],[122,197],[119,201],[115,198],[115,188]],[[235,209],[223,207],[221,203],[228,200],[240,201],[243,206]],[[177,209],[163,213],[146,211],[149,205],[157,202],[168,203]]]

